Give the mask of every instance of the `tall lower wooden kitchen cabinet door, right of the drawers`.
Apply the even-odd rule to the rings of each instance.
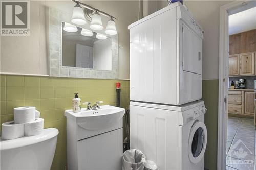
[[[244,92],[244,114],[254,115],[254,92]]]

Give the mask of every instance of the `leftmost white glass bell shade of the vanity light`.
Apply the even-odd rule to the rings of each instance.
[[[84,17],[83,9],[78,3],[73,8],[71,22],[77,25],[84,25],[87,22],[86,17]]]

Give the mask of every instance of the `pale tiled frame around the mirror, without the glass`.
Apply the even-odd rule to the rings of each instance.
[[[112,36],[112,70],[97,70],[90,68],[78,68],[62,66],[62,23],[70,22],[71,14],[49,9],[49,44],[50,44],[50,76],[77,77],[97,79],[118,78],[118,37]],[[73,24],[73,23],[72,23]],[[81,26],[77,26],[81,27]]]

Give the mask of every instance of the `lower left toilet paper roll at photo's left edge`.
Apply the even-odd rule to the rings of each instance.
[[[24,136],[24,124],[16,124],[13,121],[2,124],[1,138],[4,140],[16,139]]]

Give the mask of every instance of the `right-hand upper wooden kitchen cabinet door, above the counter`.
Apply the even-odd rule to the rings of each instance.
[[[240,75],[254,75],[254,52],[239,55]]]

